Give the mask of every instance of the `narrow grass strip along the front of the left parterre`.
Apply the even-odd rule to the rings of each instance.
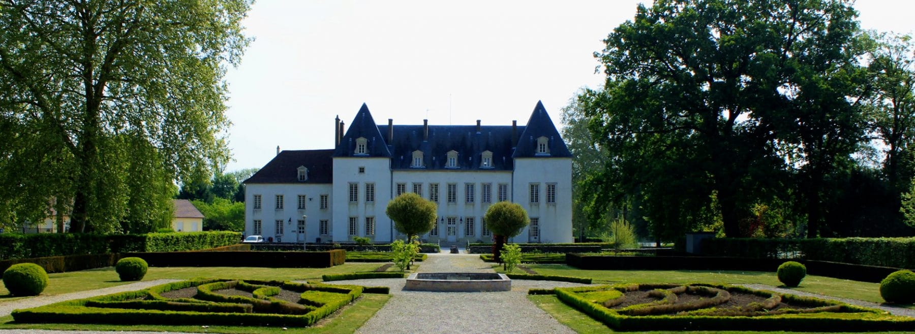
[[[165,326],[165,325],[100,325],[100,324],[18,324],[13,317],[0,318],[0,329],[53,329],[53,330],[108,330],[108,331],[169,331],[186,333],[352,333],[359,329],[365,321],[375,315],[379,309],[388,302],[391,295],[363,294],[350,306],[343,308],[328,318],[321,320],[317,325],[307,329],[284,330],[275,327],[245,327],[245,326]]]

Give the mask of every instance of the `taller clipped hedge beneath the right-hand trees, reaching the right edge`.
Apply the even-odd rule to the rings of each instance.
[[[915,237],[908,238],[709,238],[706,256],[806,259],[915,269]]]

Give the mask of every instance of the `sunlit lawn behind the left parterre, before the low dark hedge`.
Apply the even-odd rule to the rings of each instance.
[[[247,266],[169,266],[150,267],[143,277],[145,281],[161,278],[188,279],[194,277],[243,277],[248,279],[320,280],[325,274],[345,274],[360,271],[371,271],[383,263],[346,263],[329,268],[264,268]],[[115,287],[132,282],[119,280],[114,267],[73,271],[69,273],[48,274],[48,287],[42,295],[58,295],[68,292],[94,290],[102,287]],[[0,286],[0,303],[21,299],[12,297],[5,287]]]

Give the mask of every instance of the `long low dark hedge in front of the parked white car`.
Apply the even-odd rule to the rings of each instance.
[[[126,253],[146,260],[149,266],[266,266],[266,267],[318,267],[339,266],[346,262],[346,251],[327,252],[171,252]]]

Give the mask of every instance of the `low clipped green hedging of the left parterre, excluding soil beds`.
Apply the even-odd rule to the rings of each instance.
[[[13,311],[12,316],[16,322],[20,323],[105,323],[105,324],[168,324],[168,325],[245,325],[245,326],[296,326],[306,327],[314,324],[321,318],[325,318],[335,312],[342,306],[349,304],[351,301],[360,297],[362,287],[358,286],[325,286],[315,284],[298,284],[292,282],[283,282],[283,287],[295,291],[305,292],[307,290],[318,290],[337,292],[342,296],[335,298],[331,302],[322,305],[304,315],[288,314],[258,314],[258,313],[239,313],[239,312],[208,312],[199,311],[176,311],[176,310],[159,310],[159,309],[131,309],[131,308],[87,308],[87,304],[105,302],[126,302],[131,299],[152,297],[153,290],[159,293],[170,291],[175,288],[197,287],[204,282],[210,284],[226,283],[223,279],[197,279],[190,281],[176,282],[174,284],[151,287],[146,290],[128,291],[102,297],[92,297],[85,299],[69,300],[59,302],[39,308],[18,309]],[[238,283],[236,283],[238,285]],[[251,287],[253,285],[247,285]],[[260,287],[259,287],[260,288]],[[236,296],[237,297],[237,296]],[[247,298],[247,297],[242,297]],[[246,303],[268,302],[255,298],[247,298]],[[212,303],[198,300],[198,303],[212,305]],[[269,303],[269,302],[268,302]],[[163,303],[151,303],[158,305],[167,305]],[[291,304],[291,303],[290,303]],[[182,306],[183,308],[207,308],[206,306]],[[211,306],[210,306],[211,307]],[[256,308],[256,307],[255,307]]]

